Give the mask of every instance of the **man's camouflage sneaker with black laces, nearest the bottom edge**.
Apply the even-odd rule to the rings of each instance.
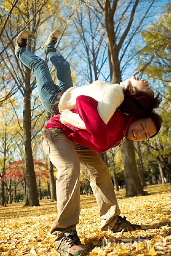
[[[76,230],[70,230],[64,233],[57,251],[62,255],[87,255],[87,251],[82,246]]]

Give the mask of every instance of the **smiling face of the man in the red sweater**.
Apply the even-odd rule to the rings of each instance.
[[[141,118],[133,121],[126,134],[127,140],[142,141],[153,136],[156,127],[151,118]]]

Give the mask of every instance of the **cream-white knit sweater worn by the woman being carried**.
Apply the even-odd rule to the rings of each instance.
[[[116,108],[123,102],[124,96],[122,88],[126,88],[129,82],[130,79],[127,79],[119,85],[97,80],[87,86],[73,86],[69,88],[62,94],[60,99],[60,121],[62,124],[72,124],[86,130],[85,124],[80,116],[71,112],[71,110],[76,109],[76,98],[80,95],[85,95],[99,102],[97,110],[102,120],[107,124]]]

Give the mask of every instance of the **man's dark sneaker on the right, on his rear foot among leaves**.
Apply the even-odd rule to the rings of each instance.
[[[115,225],[111,229],[113,233],[115,232],[121,232],[122,230],[124,232],[128,231],[135,231],[141,229],[140,225],[131,224],[128,220],[126,220],[126,217],[123,218],[121,216],[118,216],[117,221],[115,222]]]

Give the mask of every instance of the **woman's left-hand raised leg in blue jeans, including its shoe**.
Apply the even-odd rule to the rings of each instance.
[[[15,48],[16,56],[33,70],[38,86],[38,94],[44,108],[50,112],[56,110],[56,98],[60,88],[54,84],[47,63],[26,49],[28,32],[20,32]]]

